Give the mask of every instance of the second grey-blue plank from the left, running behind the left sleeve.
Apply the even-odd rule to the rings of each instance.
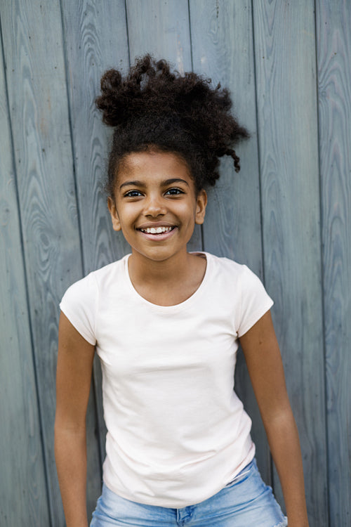
[[[81,276],[81,254],[60,4],[16,0],[0,9],[51,522],[62,526],[53,454],[58,304]],[[97,448],[94,455],[92,466]]]

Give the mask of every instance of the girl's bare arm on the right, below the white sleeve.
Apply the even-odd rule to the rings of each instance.
[[[270,311],[240,337],[240,342],[282,483],[289,527],[308,527],[298,430]]]

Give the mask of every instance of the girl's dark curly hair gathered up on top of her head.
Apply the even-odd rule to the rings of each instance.
[[[232,145],[249,133],[230,114],[227,89],[211,88],[211,79],[171,72],[166,60],[149,54],[135,60],[123,78],[108,70],[101,79],[96,105],[105,124],[114,126],[105,188],[113,195],[115,176],[131,152],[161,150],[183,157],[197,191],[219,178],[218,157],[230,155],[235,171],[239,157]]]

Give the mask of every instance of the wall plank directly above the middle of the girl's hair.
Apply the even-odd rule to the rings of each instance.
[[[145,53],[165,58],[180,73],[192,70],[189,7],[187,0],[126,0],[129,56]],[[201,228],[196,227],[188,249],[202,249]]]

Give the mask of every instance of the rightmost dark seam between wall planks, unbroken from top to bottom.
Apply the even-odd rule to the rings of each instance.
[[[317,26],[317,2],[314,0],[314,57],[316,60],[316,95],[317,95],[317,144],[318,144],[318,174],[319,174],[319,236],[320,236],[320,253],[321,253],[321,280],[322,280],[322,327],[323,327],[323,360],[324,360],[324,412],[325,412],[325,437],[326,437],[326,479],[329,481],[329,430],[328,430],[328,384],[326,376],[326,315],[325,315],[325,287],[324,287],[324,246],[323,246],[323,207],[322,207],[322,172],[321,172],[321,138],[320,138],[320,117],[319,117],[319,67],[318,67],[318,46],[317,39],[319,38]],[[330,490],[329,486],[326,492],[326,510],[328,512],[327,525],[330,525],[331,506],[330,506]]]

